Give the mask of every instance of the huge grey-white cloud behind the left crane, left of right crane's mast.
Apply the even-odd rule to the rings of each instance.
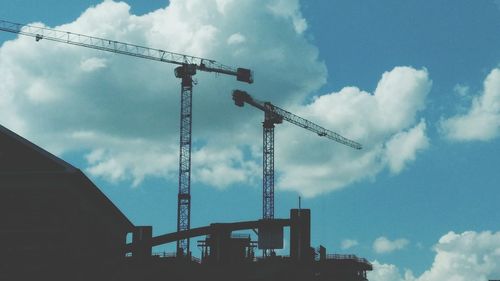
[[[281,103],[302,99],[324,83],[325,66],[316,47],[296,33],[297,22],[305,22],[298,1],[268,3],[177,0],[136,16],[124,2],[104,1],[55,28],[248,67],[256,93],[270,91]],[[2,125],[58,154],[88,150],[86,170],[94,176],[133,185],[148,176],[176,181],[180,87],[174,67],[21,36],[0,48]],[[247,157],[240,148],[260,147],[259,117],[241,112],[230,96],[249,86],[234,77],[195,78],[193,180],[221,188],[255,183],[260,155]]]

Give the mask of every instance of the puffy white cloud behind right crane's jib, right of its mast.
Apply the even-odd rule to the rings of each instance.
[[[355,87],[317,97],[292,112],[363,144],[358,151],[318,139],[303,129],[276,129],[279,187],[315,196],[373,178],[389,168],[398,173],[428,146],[425,108],[431,81],[425,69],[396,67],[382,75],[373,94]]]

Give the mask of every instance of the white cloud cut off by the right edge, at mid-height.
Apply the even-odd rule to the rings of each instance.
[[[500,134],[500,69],[484,81],[481,95],[472,100],[465,114],[441,120],[441,133],[455,141],[488,141]]]

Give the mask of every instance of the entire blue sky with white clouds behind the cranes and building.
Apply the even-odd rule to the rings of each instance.
[[[367,258],[373,281],[500,278],[498,0],[0,7],[3,20],[253,70],[251,85],[195,76],[193,227],[261,216],[263,116],[234,106],[242,89],[363,144],[275,129],[275,216],[301,196],[314,246]],[[174,65],[5,32],[0,44],[1,124],[82,169],[134,224],[175,231]]]

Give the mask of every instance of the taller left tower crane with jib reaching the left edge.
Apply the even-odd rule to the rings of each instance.
[[[252,72],[233,68],[214,60],[173,53],[160,49],[119,42],[116,40],[0,20],[0,30],[59,43],[86,47],[111,53],[178,65],[175,77],[181,79],[179,193],[177,203],[177,231],[190,229],[191,213],[191,125],[193,76],[196,71],[236,76],[241,82],[253,83]],[[189,239],[177,241],[177,255],[189,254]]]

